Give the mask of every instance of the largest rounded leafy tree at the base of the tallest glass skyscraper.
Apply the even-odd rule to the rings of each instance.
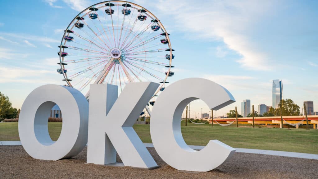
[[[278,115],[280,115],[280,111],[282,111],[283,116],[299,116],[300,115],[300,111],[299,111],[300,107],[297,104],[294,104],[294,101],[291,99],[280,100],[280,104],[278,106],[279,107],[276,109]]]

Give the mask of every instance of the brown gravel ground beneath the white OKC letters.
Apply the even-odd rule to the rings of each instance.
[[[86,148],[71,159],[44,161],[30,157],[22,146],[0,146],[0,178],[318,178],[317,160],[236,153],[210,172],[186,172],[167,165],[154,148],[148,150],[160,168],[147,170],[85,164]],[[117,161],[120,162],[118,156]]]

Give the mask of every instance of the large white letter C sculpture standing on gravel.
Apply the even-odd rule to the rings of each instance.
[[[171,167],[210,171],[229,159],[235,149],[218,140],[210,140],[201,151],[193,150],[185,143],[181,133],[181,115],[185,106],[196,99],[203,100],[213,110],[235,102],[228,90],[210,80],[188,78],[174,82],[156,100],[151,114],[150,134],[157,153]]]

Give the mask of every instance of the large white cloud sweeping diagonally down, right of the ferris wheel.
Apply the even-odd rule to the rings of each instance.
[[[174,18],[176,28],[189,33],[189,36],[222,40],[228,48],[242,56],[237,60],[241,67],[270,70],[269,59],[256,48],[257,41],[250,39],[249,34],[253,23],[271,6],[271,1],[205,1],[200,6],[193,6],[193,1],[162,0],[154,7],[162,14]]]

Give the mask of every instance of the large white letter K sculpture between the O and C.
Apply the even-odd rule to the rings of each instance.
[[[125,166],[157,167],[132,126],[158,86],[153,82],[131,82],[119,97],[118,86],[90,86],[87,163],[116,163],[117,151]]]

